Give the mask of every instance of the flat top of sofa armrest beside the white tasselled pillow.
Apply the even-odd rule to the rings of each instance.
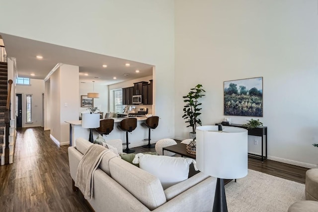
[[[171,200],[172,198],[176,197],[177,195],[181,194],[182,192],[188,190],[189,188],[195,186],[196,184],[204,181],[205,179],[209,178],[209,176],[203,174],[202,172],[184,180],[178,184],[170,186],[166,190],[164,190],[165,198],[167,201]]]

